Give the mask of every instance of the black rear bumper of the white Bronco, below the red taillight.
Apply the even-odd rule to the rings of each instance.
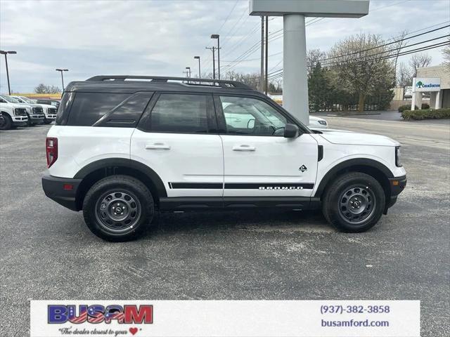
[[[77,207],[77,190],[81,179],[58,178],[45,174],[42,177],[42,189],[45,195],[58,204],[79,211]]]

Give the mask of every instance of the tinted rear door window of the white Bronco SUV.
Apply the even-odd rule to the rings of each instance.
[[[207,95],[161,94],[150,114],[150,130],[207,133]]]

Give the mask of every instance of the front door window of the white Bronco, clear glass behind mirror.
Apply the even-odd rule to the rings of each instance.
[[[226,133],[283,136],[288,120],[271,105],[256,98],[220,96]]]

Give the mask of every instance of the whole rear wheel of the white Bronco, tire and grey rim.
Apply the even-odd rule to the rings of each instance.
[[[153,220],[154,213],[152,194],[141,180],[130,176],[99,180],[83,201],[87,227],[107,241],[136,239]]]

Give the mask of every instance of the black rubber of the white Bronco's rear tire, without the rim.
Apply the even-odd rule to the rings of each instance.
[[[84,198],[83,214],[86,225],[89,227],[91,232],[108,241],[120,242],[135,239],[139,234],[141,234],[141,232],[143,232],[146,225],[148,225],[148,223],[150,223],[153,219],[153,197],[147,187],[139,180],[131,177],[126,178],[126,180],[114,180],[112,178],[108,178],[100,180],[98,183],[94,184]],[[110,190],[129,191],[131,194],[134,194],[137,199],[139,199],[141,216],[132,230],[123,233],[110,232],[98,223],[96,218],[97,201],[103,196],[103,194],[105,194],[105,192]]]

